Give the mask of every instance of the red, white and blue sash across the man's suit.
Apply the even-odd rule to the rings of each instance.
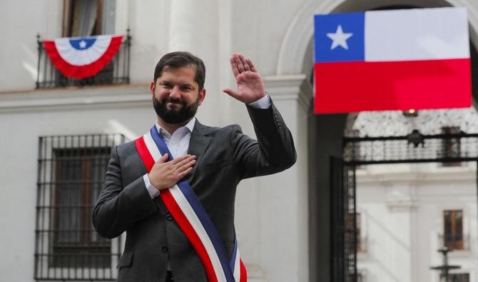
[[[135,143],[148,172],[165,153],[168,153],[168,161],[172,159],[156,126],[136,139]],[[234,242],[232,256],[228,258],[218,231],[188,181],[180,180],[173,187],[161,190],[159,196],[198,253],[210,282],[247,281],[247,272],[240,260],[237,240]]]

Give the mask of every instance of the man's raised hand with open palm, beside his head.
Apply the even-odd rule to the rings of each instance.
[[[223,92],[245,104],[263,98],[265,95],[264,82],[253,62],[250,59],[245,59],[242,54],[236,53],[230,57],[229,61],[238,89],[224,89]]]

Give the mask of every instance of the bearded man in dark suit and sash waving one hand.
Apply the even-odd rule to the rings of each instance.
[[[156,65],[156,124],[113,148],[93,211],[101,236],[126,231],[118,281],[245,281],[235,259],[236,186],[289,168],[296,155],[252,61],[233,54],[230,65],[238,87],[224,92],[247,105],[258,141],[238,125],[215,128],[195,119],[205,99],[199,58],[173,52]]]

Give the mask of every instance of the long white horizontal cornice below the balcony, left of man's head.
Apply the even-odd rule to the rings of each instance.
[[[0,114],[151,105],[148,86],[103,86],[0,94]]]

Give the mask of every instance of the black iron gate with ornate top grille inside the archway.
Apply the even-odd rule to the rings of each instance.
[[[357,166],[463,161],[478,161],[478,134],[423,135],[414,130],[407,136],[345,137],[342,158],[330,158],[332,281],[360,282],[355,218]]]

